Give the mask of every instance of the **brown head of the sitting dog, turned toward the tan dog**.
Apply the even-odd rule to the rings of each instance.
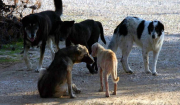
[[[76,45],[76,61],[75,63],[86,62],[91,64],[94,62],[93,58],[89,55],[88,49],[83,45]]]

